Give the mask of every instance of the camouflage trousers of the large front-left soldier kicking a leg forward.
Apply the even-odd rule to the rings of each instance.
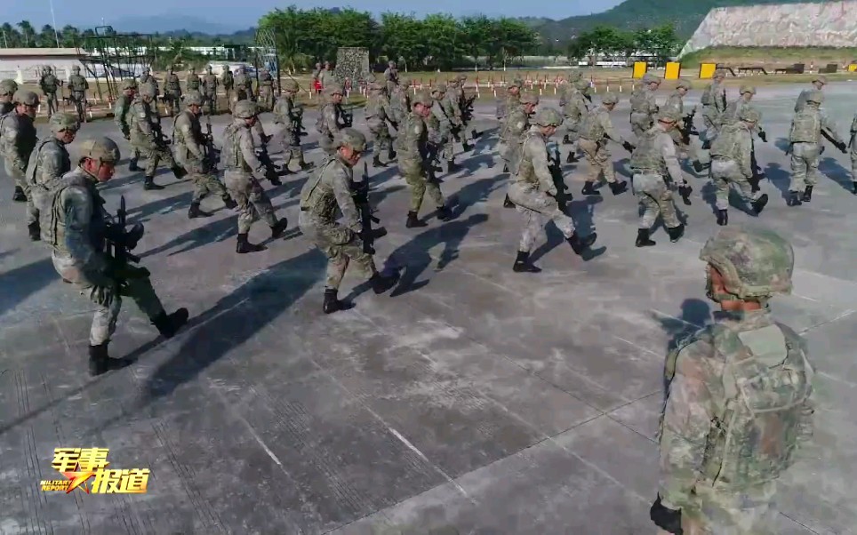
[[[140,311],[150,320],[164,313],[161,299],[158,299],[148,277],[128,279],[120,293],[119,283],[116,280],[105,275],[88,276],[74,266],[74,260],[54,253],[52,261],[57,273],[69,283],[74,283],[80,294],[87,296],[96,305],[95,315],[92,317],[92,328],[89,331],[89,343],[92,346],[110,341],[110,337],[116,332],[116,318],[119,317],[119,310],[122,308],[122,296],[133,299]]]

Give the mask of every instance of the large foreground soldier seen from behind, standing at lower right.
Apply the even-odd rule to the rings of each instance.
[[[773,321],[794,252],[770,230],[728,227],[702,247],[714,323],[669,353],[661,481],[663,532],[777,533],[777,480],[813,436],[813,367],[803,339]]]

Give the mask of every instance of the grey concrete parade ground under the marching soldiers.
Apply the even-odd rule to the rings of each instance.
[[[757,140],[757,156],[771,200],[756,218],[735,197],[730,223],[790,238],[795,291],[773,299],[773,313],[805,337],[817,368],[815,439],[781,481],[777,532],[845,534],[857,532],[857,196],[848,156],[825,142],[812,203],[785,204],[786,137],[806,87],[760,88],[754,104],[769,142]],[[853,91],[845,82],[824,90],[845,140]],[[613,124],[636,142],[622,99]],[[493,103],[476,116],[490,133],[457,156],[461,172],[440,175],[451,221],[434,218],[427,198],[429,226],[405,228],[404,179],[395,166],[370,166],[371,201],[389,233],[376,262],[402,280],[376,296],[348,275],[340,297],[356,307],[333,315],[321,309],[324,255],[296,228],[306,173],[263,184],[290,228],[271,241],[256,223],[251,241],[268,250],[237,255],[236,212],[210,198],[203,209],[214,216],[188,220],[187,180],[161,170],[156,182],[167,188],[144,191],[114,124],[84,124],[72,160],[87,137],[120,141],[123,164],[102,187],[108,210],[125,197],[129,222],[146,226],[134,252],[164,307],[191,315],[164,341],[124,299],[109,350],[134,362],[94,379],[92,305],[62,283],[46,246],[28,240],[25,207],[2,175],[0,533],[654,533],[664,357],[714,309],[698,260],[717,231],[714,188],[688,172],[693,205],[678,204],[685,237],[671,244],[659,224],[657,245],[637,249],[630,191],[581,196],[586,164],[565,164],[574,219],[582,234],[597,230],[605,250],[584,262],[549,225],[533,252],[543,271],[517,274],[523,220],[502,206],[508,178]],[[262,119],[272,132],[270,114]],[[304,142],[317,163],[315,119],[309,110]],[[218,145],[227,121],[213,120]],[[361,111],[355,123],[365,132]],[[627,180],[629,154],[610,148]],[[279,161],[274,143],[271,152]],[[59,447],[109,448],[110,468],[149,468],[148,492],[42,491],[41,481],[63,479],[52,468]]]

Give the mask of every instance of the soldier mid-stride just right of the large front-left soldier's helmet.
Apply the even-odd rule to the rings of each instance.
[[[130,128],[129,138],[131,145],[140,151],[140,155],[146,158],[145,180],[143,189],[164,189],[164,186],[155,183],[155,172],[157,165],[164,162],[175,175],[176,180],[181,180],[187,173],[175,163],[170,148],[162,139],[160,124],[157,117],[152,113],[152,94],[150,86],[140,88],[140,94],[131,103],[128,110],[128,126]]]

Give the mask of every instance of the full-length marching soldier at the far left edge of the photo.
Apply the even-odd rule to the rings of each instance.
[[[29,155],[36,147],[36,110],[39,98],[35,92],[19,89],[12,96],[15,106],[11,112],[0,116],[0,155],[4,157],[6,176],[15,180],[12,201],[28,202],[29,185],[26,180]],[[36,222],[36,213],[28,210],[27,224]]]

